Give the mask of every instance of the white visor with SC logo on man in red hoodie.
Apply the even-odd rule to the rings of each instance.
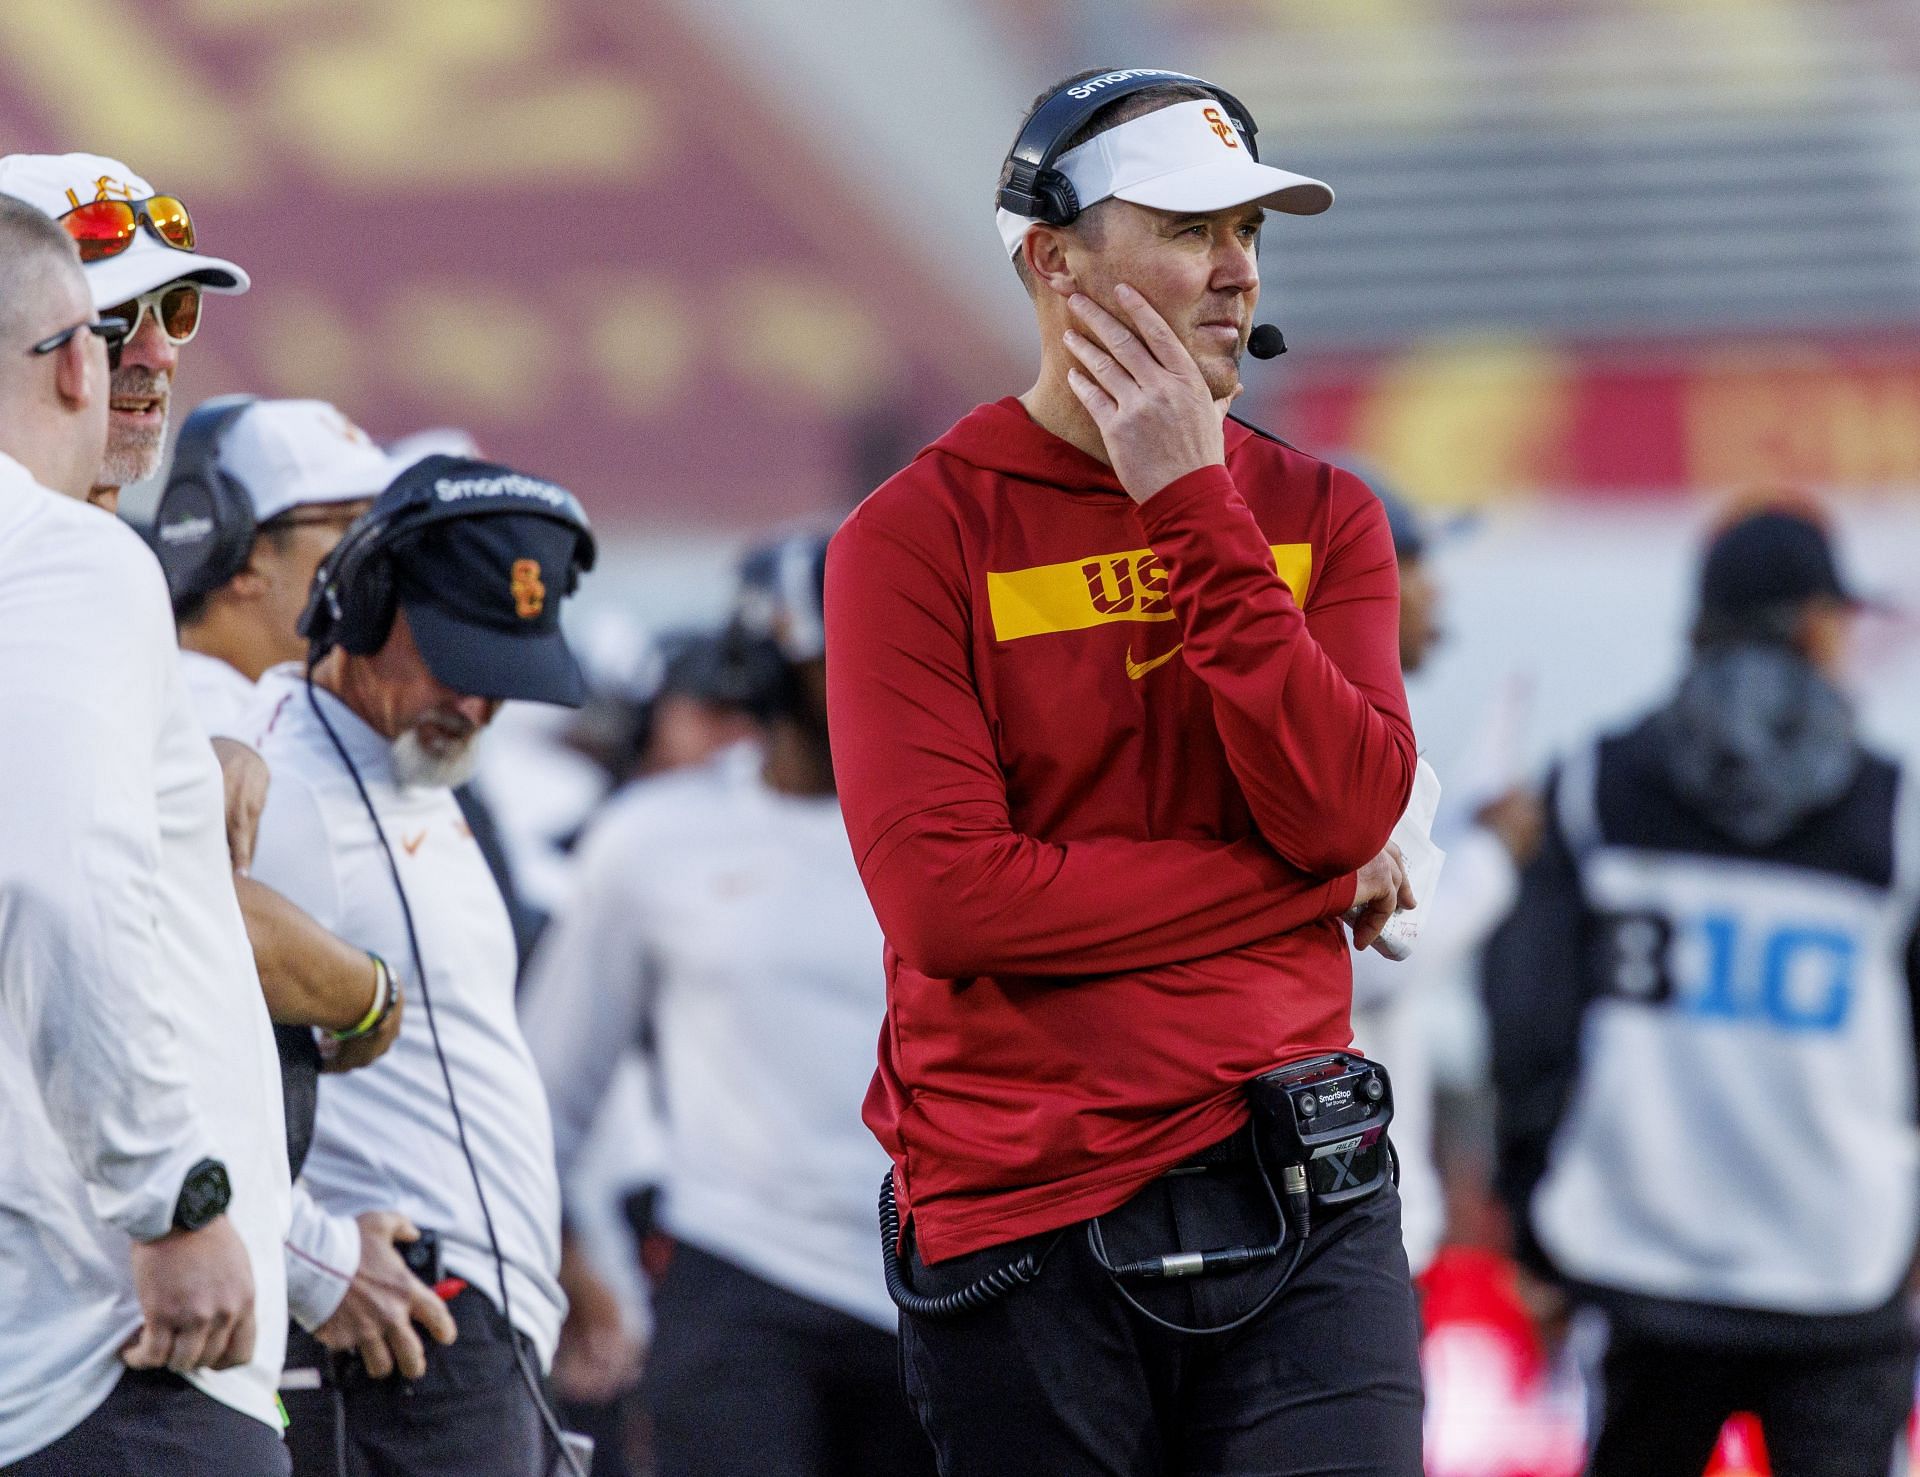
[[[1054,161],[1081,204],[1129,200],[1135,206],[1204,215],[1235,206],[1265,206],[1286,215],[1319,215],[1332,204],[1325,181],[1260,163],[1213,98],[1192,98],[1096,133]],[[1039,225],[1033,217],[996,213],[1008,255]]]

